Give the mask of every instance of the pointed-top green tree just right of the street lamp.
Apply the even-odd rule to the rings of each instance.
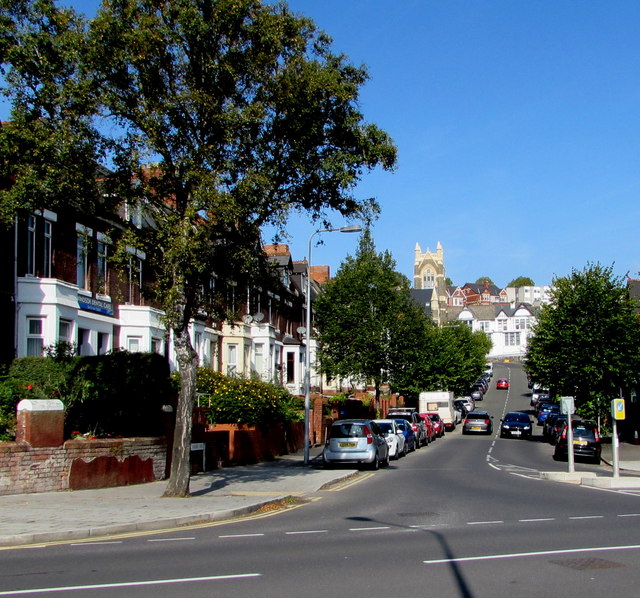
[[[424,310],[396,272],[388,252],[377,253],[366,230],[354,256],[348,256],[314,305],[321,370],[331,378],[380,387],[402,379],[420,348]]]

